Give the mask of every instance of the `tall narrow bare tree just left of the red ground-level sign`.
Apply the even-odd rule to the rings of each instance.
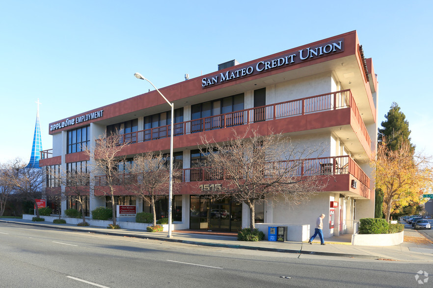
[[[110,196],[110,203],[113,207],[113,225],[116,225],[116,207],[114,195],[117,186],[120,184],[120,173],[118,166],[124,162],[125,157],[122,155],[121,150],[128,145],[128,142],[123,140],[123,135],[117,131],[110,134],[104,134],[95,141],[95,146],[91,149],[85,150],[85,153],[90,158],[90,169],[95,173],[100,173],[105,179],[104,183],[100,183],[107,189],[102,188],[101,191],[104,195]],[[96,186],[101,187],[101,186]]]

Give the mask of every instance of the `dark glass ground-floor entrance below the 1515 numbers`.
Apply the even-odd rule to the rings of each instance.
[[[190,196],[189,229],[237,232],[242,226],[242,205],[230,197],[210,199],[207,195]]]

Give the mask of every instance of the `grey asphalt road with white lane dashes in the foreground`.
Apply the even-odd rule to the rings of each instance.
[[[423,286],[417,282],[426,279],[424,271],[433,274],[429,263],[204,247],[9,223],[0,223],[0,243],[0,287],[335,288],[433,283],[433,277]]]

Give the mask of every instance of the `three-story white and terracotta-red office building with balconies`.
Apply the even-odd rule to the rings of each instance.
[[[258,202],[256,222],[314,224],[324,213],[325,237],[344,233],[353,220],[374,217],[374,181],[370,159],[377,144],[378,82],[371,59],[364,57],[356,31],[292,48],[247,63],[235,60],[218,71],[159,89],[175,105],[174,161],[183,168],[173,197],[175,229],[237,231],[249,225],[249,209],[230,198],[212,200],[196,164],[206,155],[198,150],[200,136],[226,141],[233,129],[266,127],[305,145],[325,144],[317,155],[316,172],[332,175],[323,191],[306,203],[287,207],[278,201]],[[132,76],[132,74],[131,74]],[[144,87],[144,86],[143,86]],[[50,123],[53,149],[42,152],[40,165],[55,171],[87,167],[83,146],[119,129],[130,143],[127,158],[146,151],[169,152],[169,106],[156,91]],[[120,168],[119,168],[120,169]],[[53,175],[53,174],[52,174]],[[54,176],[47,187],[55,186]],[[104,175],[91,175],[87,215],[106,206],[106,196],[93,185]],[[93,184],[92,184],[93,183]],[[119,204],[149,207],[126,190]],[[167,214],[167,199],[157,203],[158,217]],[[61,209],[76,207],[73,198]]]

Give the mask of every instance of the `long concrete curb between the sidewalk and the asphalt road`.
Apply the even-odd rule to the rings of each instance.
[[[95,231],[95,230],[85,229],[85,228],[76,229],[76,228],[72,228],[72,227],[71,228],[60,227],[60,226],[54,226],[54,225],[42,224],[42,223],[40,223],[40,224],[39,223],[23,223],[23,222],[18,222],[18,221],[5,221],[5,220],[0,220],[0,222],[27,225],[27,226],[38,226],[38,227],[44,227],[44,228],[53,228],[53,229],[67,230],[67,231],[74,231],[74,232],[94,233],[94,234],[119,236],[119,237],[131,237],[131,238],[139,238],[139,239],[168,241],[168,242],[176,242],[176,243],[184,243],[184,244],[192,244],[192,245],[200,245],[200,246],[209,246],[209,247],[222,247],[222,248],[232,248],[232,249],[257,250],[257,251],[267,251],[267,252],[304,254],[304,255],[336,256],[336,257],[370,259],[370,260],[375,260],[375,259],[380,258],[379,256],[371,256],[371,255],[302,251],[302,248],[301,248],[301,250],[293,250],[293,249],[245,246],[245,245],[235,245],[235,244],[200,242],[200,241],[193,241],[193,240],[181,240],[181,239],[163,238],[163,237],[155,237],[155,236],[147,236],[147,235],[144,236],[144,235],[138,235],[138,234],[122,234],[122,233],[114,233],[114,232],[110,232],[110,231],[107,231],[107,232]],[[338,244],[340,244],[340,243],[338,243]],[[303,245],[303,243],[302,243],[302,245]]]

